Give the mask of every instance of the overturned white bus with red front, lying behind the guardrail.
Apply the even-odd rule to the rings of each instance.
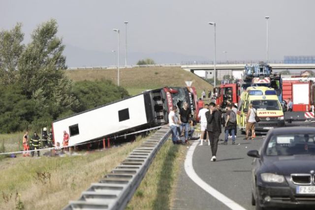
[[[147,90],[113,103],[90,109],[52,122],[54,143],[63,143],[63,131],[69,146],[128,134],[168,123],[172,106],[189,103],[193,118],[198,115],[197,94],[193,87]]]

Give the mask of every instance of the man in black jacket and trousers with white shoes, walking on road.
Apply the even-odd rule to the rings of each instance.
[[[207,118],[207,131],[209,134],[209,140],[211,145],[212,158],[211,161],[217,160],[217,150],[219,136],[221,134],[221,114],[216,108],[216,104],[211,102],[209,112],[206,112]]]

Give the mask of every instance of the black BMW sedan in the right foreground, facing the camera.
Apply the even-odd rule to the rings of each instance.
[[[315,128],[270,130],[253,160],[252,205],[270,208],[315,209]]]

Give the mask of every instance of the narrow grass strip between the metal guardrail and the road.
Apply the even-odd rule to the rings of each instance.
[[[172,205],[181,163],[186,146],[167,141],[158,151],[145,178],[130,200],[127,210],[169,210]]]

